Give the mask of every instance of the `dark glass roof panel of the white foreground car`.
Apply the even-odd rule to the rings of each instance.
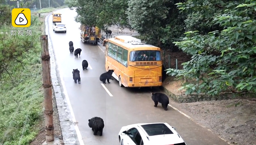
[[[173,134],[173,132],[163,123],[142,125],[149,136]]]

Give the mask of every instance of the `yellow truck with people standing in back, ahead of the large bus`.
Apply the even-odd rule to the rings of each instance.
[[[100,42],[101,30],[97,26],[89,27],[88,25],[81,24],[79,29],[81,30],[80,37],[83,43],[93,43],[97,45],[98,42]]]

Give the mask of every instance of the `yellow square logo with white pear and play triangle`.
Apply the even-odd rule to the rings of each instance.
[[[12,9],[12,26],[29,27],[31,25],[31,11],[28,8]]]

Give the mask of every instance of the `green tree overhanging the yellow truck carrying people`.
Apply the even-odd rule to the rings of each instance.
[[[100,28],[111,25],[127,27],[127,0],[66,0],[66,4],[78,13],[76,22]]]

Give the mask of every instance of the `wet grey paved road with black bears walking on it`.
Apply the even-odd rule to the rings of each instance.
[[[49,35],[55,51],[58,70],[62,84],[65,85],[78,127],[85,145],[118,144],[118,132],[122,126],[134,123],[167,122],[176,128],[188,145],[226,145],[207,129],[197,125],[187,117],[169,107],[164,111],[159,105],[153,107],[149,88],[120,88],[116,80],[105,87],[113,95],[106,92],[99,76],[105,72],[104,53],[98,46],[83,44],[80,40],[79,23],[74,21],[75,10],[62,9],[62,22],[66,24],[67,33],[54,33],[52,16],[49,17]],[[70,54],[68,42],[73,41],[74,48],[81,48],[81,57]],[[92,69],[82,69],[82,61],[86,59]],[[78,68],[81,84],[75,84],[72,70]],[[156,90],[153,90],[156,91]],[[88,119],[98,116],[103,118],[105,127],[103,136],[94,136],[88,126]]]

